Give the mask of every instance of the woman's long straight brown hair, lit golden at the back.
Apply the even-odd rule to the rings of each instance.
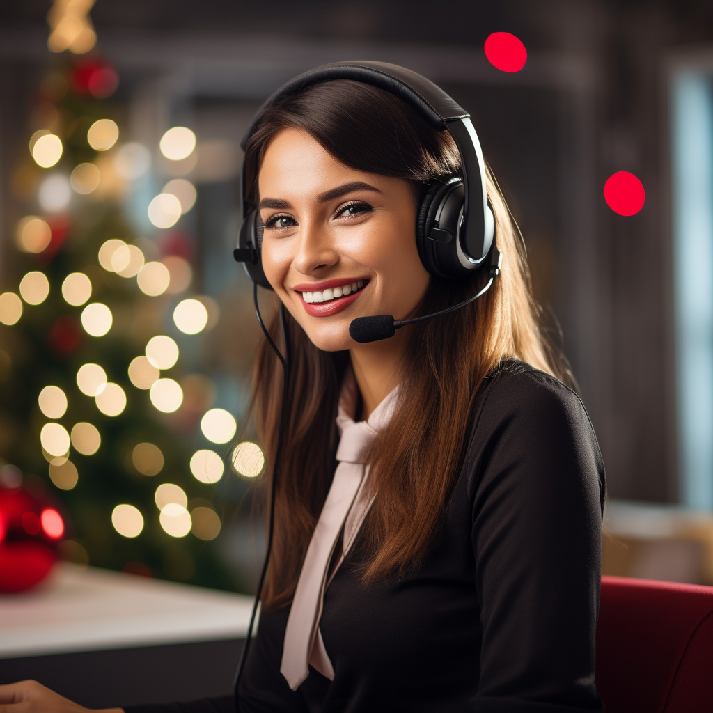
[[[362,83],[327,81],[283,98],[261,116],[245,150],[252,205],[267,145],[287,127],[306,131],[350,168],[408,180],[416,195],[427,181],[460,170],[451,136],[431,128],[404,102]],[[568,379],[540,332],[523,242],[489,171],[487,183],[503,254],[501,277],[468,307],[409,327],[399,407],[371,451],[369,486],[376,498],[360,533],[369,553],[361,565],[365,582],[404,575],[429,549],[462,464],[469,416],[483,379],[507,357]],[[482,281],[482,275],[432,278],[418,313],[461,302]],[[275,491],[275,538],[262,591],[263,605],[273,609],[292,600],[327,497],[336,465],[337,400],[349,366],[348,352],[322,352],[289,314],[285,322],[291,354],[287,429]],[[270,332],[284,349],[277,314]],[[258,349],[253,383],[252,409],[271,473],[282,371],[267,340]],[[267,486],[272,487],[270,476]]]

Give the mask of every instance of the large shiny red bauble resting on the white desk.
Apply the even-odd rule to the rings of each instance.
[[[64,531],[64,518],[48,498],[0,486],[0,593],[40,583],[57,560]]]

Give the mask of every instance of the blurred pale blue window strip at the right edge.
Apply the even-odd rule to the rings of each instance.
[[[680,498],[713,508],[713,97],[690,69],[672,80],[674,314]]]

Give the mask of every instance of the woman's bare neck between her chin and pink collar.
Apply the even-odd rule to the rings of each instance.
[[[356,385],[359,386],[364,410],[361,418],[371,416],[376,406],[384,401],[401,381],[401,345],[404,334],[396,332],[390,339],[359,344],[349,349]]]

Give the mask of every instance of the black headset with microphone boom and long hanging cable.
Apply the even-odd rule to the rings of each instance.
[[[487,282],[476,294],[468,299],[441,310],[434,314],[426,314],[414,319],[394,319],[391,314],[380,314],[372,317],[357,317],[349,325],[349,334],[356,342],[374,342],[394,336],[396,329],[408,324],[434,319],[448,312],[465,307],[485,294],[500,275],[502,255],[496,247],[495,221],[488,197],[486,195],[486,171],[483,152],[471,115],[451,99],[440,87],[414,71],[395,64],[373,61],[335,62],[326,64],[311,71],[300,74],[280,87],[265,101],[250,123],[245,136],[240,143],[245,149],[250,139],[262,121],[262,116],[272,106],[283,98],[301,93],[314,84],[334,79],[351,79],[382,89],[406,102],[411,108],[424,117],[431,126],[439,130],[447,130],[458,147],[461,155],[462,175],[453,175],[445,180],[432,180],[426,186],[421,199],[416,219],[416,247],[419,257],[426,270],[440,278],[463,278],[473,275],[476,270],[486,272]],[[240,200],[244,219],[240,227],[237,247],[233,256],[237,262],[242,262],[247,275],[252,279],[255,311],[262,331],[265,332],[270,347],[277,354],[284,369],[283,400],[280,416],[280,430],[277,440],[277,453],[273,467],[273,482],[270,496],[270,526],[267,540],[267,554],[262,568],[260,582],[257,586],[255,606],[250,617],[243,647],[235,676],[235,691],[240,681],[242,669],[250,645],[252,627],[255,621],[257,604],[260,601],[262,583],[267,572],[267,564],[272,549],[273,515],[275,513],[275,478],[278,475],[279,453],[282,449],[284,434],[284,396],[287,394],[287,379],[289,374],[289,354],[282,356],[260,317],[257,304],[257,286],[272,289],[270,282],[262,270],[261,250],[263,225],[257,206],[247,200],[249,187],[245,184],[245,165],[242,169],[242,184]],[[280,312],[285,347],[288,339],[284,331],[284,310]]]

